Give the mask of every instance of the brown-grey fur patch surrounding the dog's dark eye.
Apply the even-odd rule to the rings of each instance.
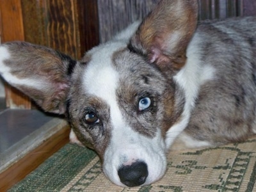
[[[77,138],[86,147],[93,148],[103,161],[104,152],[111,137],[111,122],[109,118],[109,106],[95,95],[90,95],[83,87],[83,72],[86,65],[76,68],[74,82],[70,88],[68,100],[68,112],[70,123]],[[99,118],[99,124],[89,125],[85,122],[86,113],[93,111]]]

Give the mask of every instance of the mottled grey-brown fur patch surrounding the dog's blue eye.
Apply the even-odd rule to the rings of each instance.
[[[120,74],[116,95],[127,122],[134,131],[147,137],[154,137],[157,128],[162,129],[164,136],[182,112],[182,92],[175,92],[175,84],[165,79],[156,65],[127,49],[115,52],[113,63]],[[139,111],[138,103],[143,97],[150,98],[151,106]]]

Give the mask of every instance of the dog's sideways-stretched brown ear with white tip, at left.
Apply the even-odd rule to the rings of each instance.
[[[26,42],[0,46],[0,76],[51,113],[65,113],[70,74],[76,61]]]

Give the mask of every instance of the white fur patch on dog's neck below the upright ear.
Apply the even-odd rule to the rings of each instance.
[[[197,48],[198,42],[200,42],[200,38],[195,35],[186,52],[188,57],[186,65],[173,77],[180,88],[183,88],[186,102],[182,113],[182,120],[173,125],[169,131],[166,132],[166,147],[168,148],[172,145],[180,132],[188,125],[190,113],[195,106],[195,99],[198,96],[200,86],[206,81],[214,79],[214,67],[203,65],[202,61],[199,59],[200,51]]]

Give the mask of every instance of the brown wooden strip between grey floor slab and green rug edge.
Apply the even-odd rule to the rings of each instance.
[[[69,132],[70,128],[66,125],[63,129],[53,134],[51,138],[44,141],[42,145],[13,164],[8,170],[0,173],[0,191],[6,191],[11,188],[14,184],[35,170],[45,159],[67,144],[69,141]]]

